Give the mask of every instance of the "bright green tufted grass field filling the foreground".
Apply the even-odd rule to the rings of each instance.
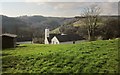
[[[3,73],[118,73],[118,40],[23,44],[2,54]]]

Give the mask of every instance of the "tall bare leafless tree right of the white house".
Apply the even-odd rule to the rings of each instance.
[[[98,27],[98,17],[101,10],[97,5],[91,5],[90,7],[84,8],[83,14],[84,17],[83,22],[85,23],[85,28],[88,33],[88,40],[95,40],[95,30]]]

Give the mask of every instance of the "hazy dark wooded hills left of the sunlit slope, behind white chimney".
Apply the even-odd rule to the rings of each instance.
[[[0,15],[2,17],[2,30],[3,33],[13,33],[18,36],[41,35],[45,28],[53,30],[72,18],[64,17],[44,17],[40,15],[35,16],[20,16],[20,17],[8,17]],[[38,34],[39,33],[39,34]]]

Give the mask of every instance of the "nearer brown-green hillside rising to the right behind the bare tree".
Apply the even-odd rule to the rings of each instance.
[[[120,20],[118,18],[118,16],[99,16],[97,19],[97,27],[94,31],[95,40],[120,37]],[[51,33],[79,34],[88,39],[86,19],[86,17],[74,17],[72,21],[61,25],[51,31]]]

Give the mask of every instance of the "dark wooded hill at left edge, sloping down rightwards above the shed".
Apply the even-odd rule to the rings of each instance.
[[[20,19],[17,19],[17,18],[14,18],[14,17],[7,17],[7,16],[4,16],[4,15],[0,15],[0,17],[2,17],[2,30],[3,30],[3,33],[7,32],[7,33],[16,33],[16,29],[17,27],[19,28],[24,28],[24,27],[27,27],[27,23],[20,20]]]

